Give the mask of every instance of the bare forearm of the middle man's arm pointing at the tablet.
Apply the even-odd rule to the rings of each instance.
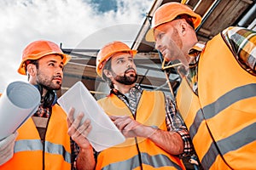
[[[168,132],[153,127],[146,127],[148,131],[148,139],[154,144],[166,150],[169,154],[180,155],[183,153],[183,139],[176,132]]]

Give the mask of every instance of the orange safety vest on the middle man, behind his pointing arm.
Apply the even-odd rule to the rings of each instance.
[[[116,95],[110,94],[98,103],[108,115],[132,116],[131,111]],[[144,125],[166,130],[165,97],[161,92],[143,91],[137,106],[135,117]],[[149,139],[129,138],[107,150],[102,150],[97,157],[96,169],[185,169],[177,156],[162,150]]]

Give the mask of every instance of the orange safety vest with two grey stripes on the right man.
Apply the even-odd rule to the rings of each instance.
[[[177,107],[205,169],[255,168],[256,77],[242,69],[220,34],[200,56],[198,96],[184,78]]]

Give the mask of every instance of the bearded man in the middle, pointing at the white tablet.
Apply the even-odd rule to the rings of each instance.
[[[136,85],[136,54],[123,42],[110,42],[97,54],[96,72],[111,88],[108,97],[99,99],[98,104],[126,140],[86,163],[96,164],[96,169],[184,169],[179,156],[192,150],[188,130],[171,98]],[[90,154],[87,158],[93,157],[89,143],[83,150]],[[86,169],[80,165],[79,169]]]

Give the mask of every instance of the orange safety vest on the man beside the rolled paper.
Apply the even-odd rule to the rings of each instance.
[[[32,118],[29,118],[18,129],[18,133],[15,141],[15,154],[3,166],[0,166],[0,169],[71,169],[67,115],[59,105],[52,107],[44,144],[41,142]]]

